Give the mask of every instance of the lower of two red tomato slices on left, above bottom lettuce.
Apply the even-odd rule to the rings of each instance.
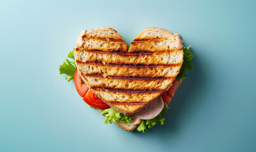
[[[88,90],[83,98],[84,102],[88,105],[93,106],[97,109],[110,108],[109,105],[105,104],[100,98],[98,98],[91,90]]]

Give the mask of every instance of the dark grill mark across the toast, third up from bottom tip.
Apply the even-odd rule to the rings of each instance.
[[[84,77],[97,77],[97,78],[105,78],[102,77],[99,73],[83,73]],[[121,80],[166,80],[166,79],[175,79],[175,76],[173,77],[122,77],[122,76],[110,76],[107,77],[111,79],[121,79]]]

